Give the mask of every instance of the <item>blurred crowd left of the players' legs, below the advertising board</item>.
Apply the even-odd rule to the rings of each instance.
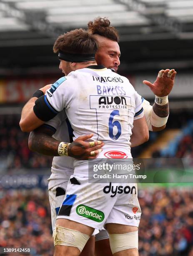
[[[30,255],[53,256],[47,194],[40,189],[0,190],[0,247],[30,248]]]

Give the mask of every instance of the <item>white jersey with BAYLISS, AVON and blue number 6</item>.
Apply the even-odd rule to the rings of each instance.
[[[78,69],[55,82],[41,103],[43,115],[40,108],[34,109],[41,120],[65,108],[75,138],[94,133],[94,140],[104,141],[100,158],[110,149],[131,157],[133,119],[143,117],[143,108],[140,95],[126,77],[101,66]]]

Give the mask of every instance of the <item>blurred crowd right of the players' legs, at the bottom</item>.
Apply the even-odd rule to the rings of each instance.
[[[193,256],[193,189],[141,189],[140,256]]]

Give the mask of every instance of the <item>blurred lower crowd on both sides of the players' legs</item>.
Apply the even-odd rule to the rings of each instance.
[[[193,256],[193,189],[148,188],[138,195],[143,212],[140,256]],[[0,190],[0,205],[0,246],[30,248],[30,255],[53,255],[47,192]]]

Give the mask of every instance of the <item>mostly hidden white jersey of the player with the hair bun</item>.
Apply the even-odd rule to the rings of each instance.
[[[49,125],[55,130],[53,138],[58,141],[72,142],[73,131],[71,130],[70,123],[67,119],[65,111],[61,111],[53,119],[46,122],[44,125]],[[48,189],[51,189],[59,184],[63,183],[63,180],[66,179],[69,172],[74,172],[73,166],[74,159],[70,156],[54,156],[51,175],[48,179]]]

